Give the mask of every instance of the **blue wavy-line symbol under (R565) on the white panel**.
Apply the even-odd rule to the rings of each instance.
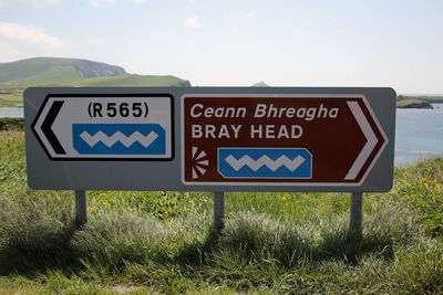
[[[158,124],[73,124],[72,143],[82,155],[165,155]]]

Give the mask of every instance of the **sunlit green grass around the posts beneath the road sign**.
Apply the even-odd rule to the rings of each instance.
[[[442,182],[443,159],[395,169],[362,235],[349,193],[227,193],[217,233],[208,192],[89,191],[79,226],[72,191],[28,188],[20,127],[0,131],[0,294],[443,293]]]

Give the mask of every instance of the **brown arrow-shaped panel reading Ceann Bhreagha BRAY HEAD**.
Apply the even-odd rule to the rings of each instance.
[[[388,144],[363,95],[184,95],[182,181],[360,186]]]

